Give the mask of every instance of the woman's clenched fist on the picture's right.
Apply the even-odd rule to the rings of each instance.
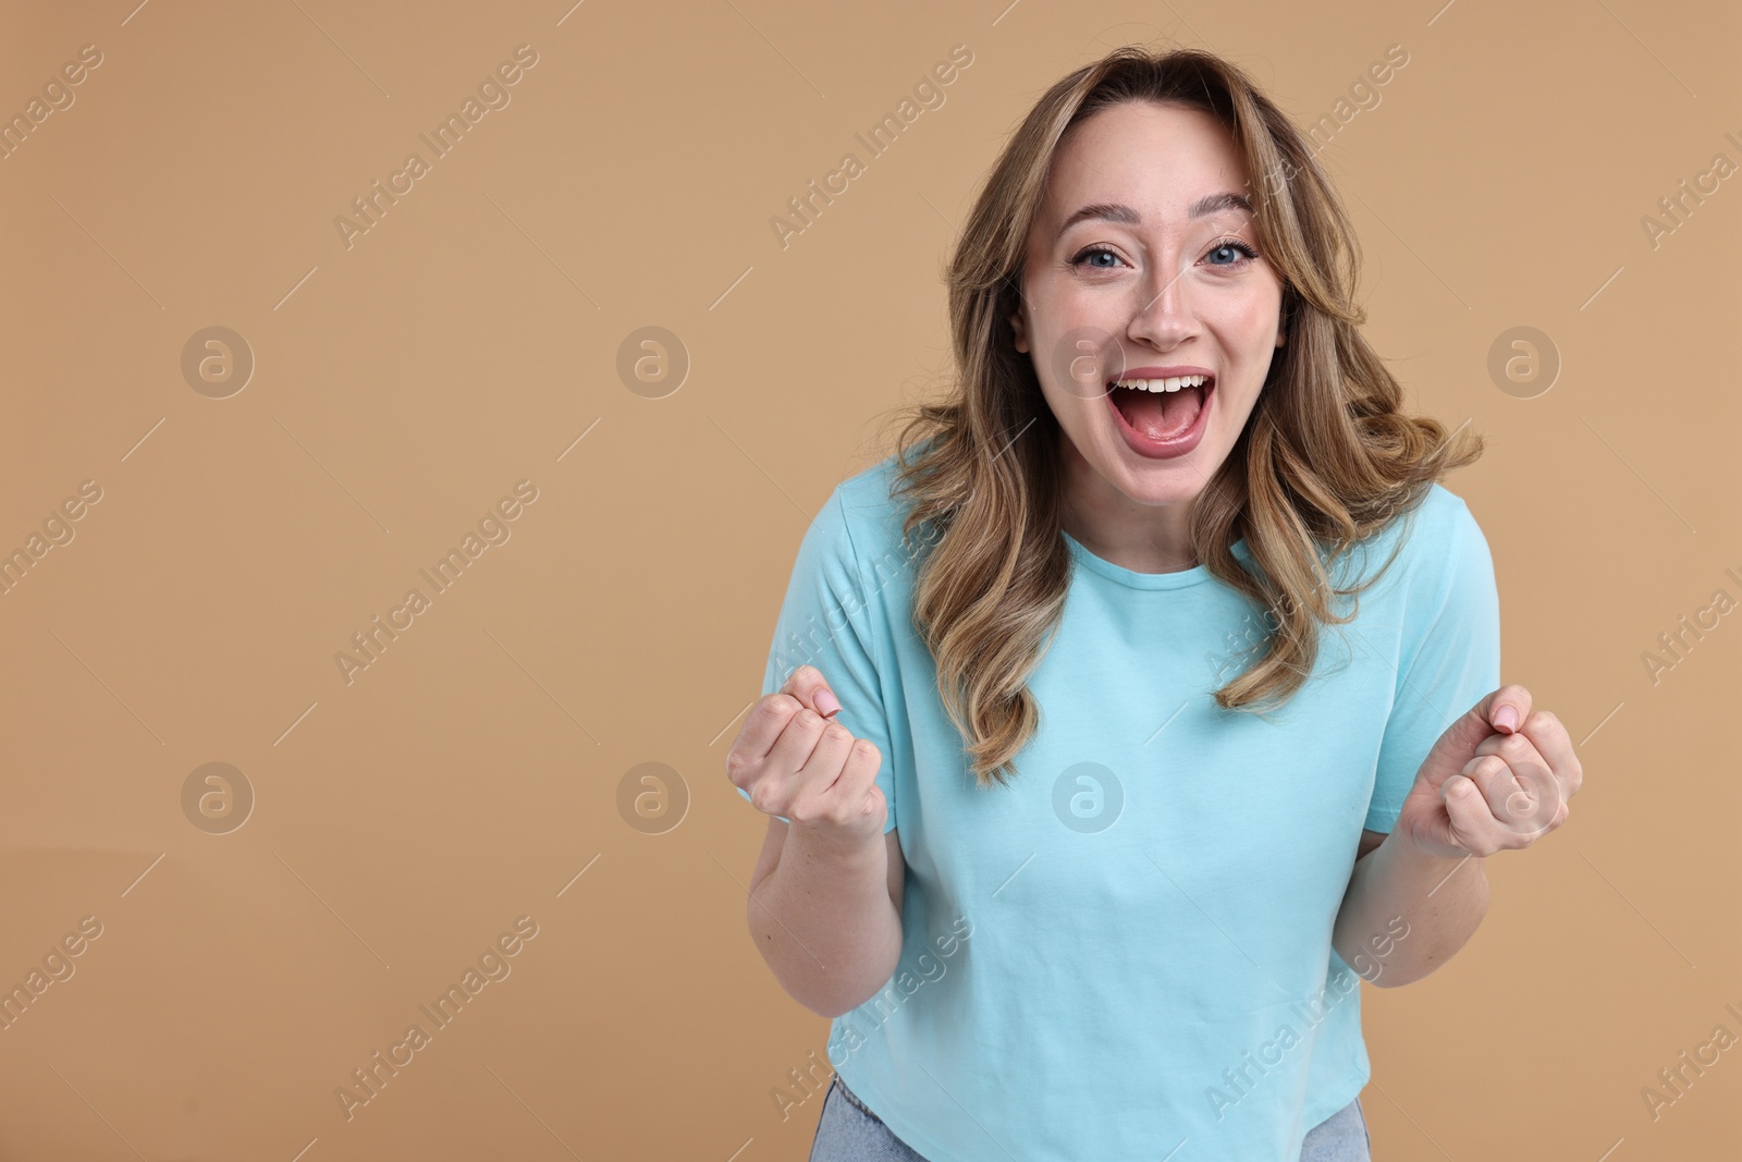
[[[1583,772],[1566,726],[1500,686],[1446,728],[1397,817],[1397,838],[1437,857],[1524,848],[1570,814]]]

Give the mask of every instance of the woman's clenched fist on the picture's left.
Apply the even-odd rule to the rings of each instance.
[[[726,777],[756,810],[850,850],[883,834],[888,803],[876,786],[883,754],[829,721],[840,709],[822,672],[800,665],[751,707],[726,754]]]

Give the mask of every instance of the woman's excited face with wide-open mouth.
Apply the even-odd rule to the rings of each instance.
[[[1258,254],[1247,178],[1221,124],[1179,105],[1101,110],[1054,155],[1012,324],[1070,477],[1113,507],[1193,500],[1282,345],[1282,282]],[[1185,375],[1209,378],[1110,387]]]

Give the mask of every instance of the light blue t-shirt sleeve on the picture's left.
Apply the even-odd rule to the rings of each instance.
[[[892,772],[888,718],[878,676],[881,613],[866,601],[864,573],[847,523],[841,490],[836,488],[805,530],[775,620],[763,669],[763,693],[786,685],[800,665],[815,665],[841,704],[834,721],[857,739],[876,746],[883,756],[876,784],[888,805],[883,833],[895,829],[895,779]],[[749,791],[737,787],[746,800]],[[786,815],[775,815],[791,822]]]

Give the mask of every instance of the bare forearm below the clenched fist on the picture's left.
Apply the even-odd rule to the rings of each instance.
[[[901,958],[883,836],[840,854],[791,828],[780,862],[751,888],[747,911],[756,948],[780,988],[826,1017],[869,1000]]]

